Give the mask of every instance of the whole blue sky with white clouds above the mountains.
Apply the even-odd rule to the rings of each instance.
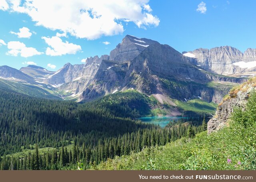
[[[36,63],[58,70],[68,62],[81,64],[87,57],[109,54],[126,34],[180,52],[224,45],[242,52],[256,48],[253,0],[32,2],[0,0],[0,65],[20,69]]]

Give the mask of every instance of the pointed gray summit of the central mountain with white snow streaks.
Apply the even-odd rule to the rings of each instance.
[[[136,56],[138,56],[146,47],[151,44],[158,43],[151,39],[138,38],[132,35],[126,35],[116,46],[116,49],[110,52],[109,59],[112,61],[132,61]]]

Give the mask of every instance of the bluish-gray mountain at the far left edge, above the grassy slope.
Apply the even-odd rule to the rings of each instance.
[[[34,80],[31,76],[28,76],[20,70],[8,66],[0,66],[0,78],[19,82],[34,83]]]

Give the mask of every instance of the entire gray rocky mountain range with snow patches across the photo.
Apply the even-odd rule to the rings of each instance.
[[[45,90],[65,100],[88,102],[107,94],[136,90],[178,112],[180,102],[219,103],[230,88],[256,71],[256,49],[230,46],[176,51],[157,41],[126,35],[110,55],[65,64],[52,72],[35,65],[0,67],[0,78]],[[254,67],[255,66],[255,67]]]

